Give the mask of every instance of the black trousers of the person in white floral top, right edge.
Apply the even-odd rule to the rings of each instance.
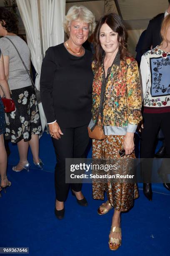
[[[163,131],[166,143],[166,152],[164,158],[170,158],[170,113],[143,113],[143,121],[144,128],[142,129],[141,133],[140,158],[154,158],[155,142],[160,128]],[[166,163],[166,159],[162,162],[159,169],[159,172],[162,174],[169,172],[169,164]],[[152,161],[141,162],[141,171],[143,174],[144,183],[151,183],[152,166]]]

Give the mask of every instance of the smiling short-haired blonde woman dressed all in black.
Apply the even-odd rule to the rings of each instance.
[[[95,17],[84,6],[72,6],[65,16],[69,38],[50,47],[42,62],[40,95],[49,125],[55,166],[55,215],[62,219],[70,184],[65,183],[65,158],[83,158],[89,143],[87,126],[92,108],[92,53],[82,44],[95,28]],[[87,206],[82,184],[71,184],[77,203]]]

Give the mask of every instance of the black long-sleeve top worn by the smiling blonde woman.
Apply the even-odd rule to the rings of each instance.
[[[88,124],[92,108],[92,53],[70,54],[64,44],[50,47],[42,61],[40,96],[47,123],[60,127]]]

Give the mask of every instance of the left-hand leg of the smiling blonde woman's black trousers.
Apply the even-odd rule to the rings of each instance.
[[[56,199],[64,202],[67,199],[70,184],[65,183],[65,158],[73,157],[74,128],[61,128],[63,135],[59,140],[52,138],[57,164],[55,166]]]

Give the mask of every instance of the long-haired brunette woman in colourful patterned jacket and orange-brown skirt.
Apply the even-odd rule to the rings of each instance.
[[[134,133],[141,120],[141,97],[138,64],[127,51],[127,32],[122,19],[115,13],[103,16],[95,33],[95,59],[93,105],[90,128],[102,124],[106,138],[93,139],[92,157],[96,159],[120,158],[119,151],[125,149],[123,158],[135,158]],[[109,248],[117,250],[121,245],[120,214],[133,206],[138,197],[136,184],[93,183],[94,199],[104,200],[98,213],[103,215],[114,207],[109,235]]]

